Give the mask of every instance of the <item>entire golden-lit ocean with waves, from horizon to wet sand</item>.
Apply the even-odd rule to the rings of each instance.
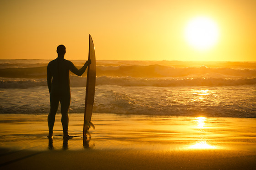
[[[0,114],[49,112],[49,61],[0,60]],[[96,61],[96,76],[94,113],[256,118],[256,62]],[[86,72],[70,83],[84,113]]]

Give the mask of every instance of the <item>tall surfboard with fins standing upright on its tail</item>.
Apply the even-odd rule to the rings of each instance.
[[[89,54],[88,60],[91,59],[91,64],[87,67],[86,77],[86,92],[85,92],[85,116],[84,116],[84,129],[83,129],[83,142],[84,144],[91,139],[89,129],[94,125],[91,123],[92,108],[95,95],[95,82],[96,82],[96,59],[94,44],[89,35]]]

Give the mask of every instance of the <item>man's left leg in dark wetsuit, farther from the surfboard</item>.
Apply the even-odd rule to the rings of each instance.
[[[48,128],[49,134],[48,138],[53,137],[53,126],[55,122],[55,115],[59,107],[59,97],[55,95],[50,95],[50,113],[48,114]]]

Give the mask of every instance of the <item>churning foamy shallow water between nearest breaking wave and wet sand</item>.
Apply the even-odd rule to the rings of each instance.
[[[94,113],[256,118],[254,85],[96,87]],[[47,86],[2,89],[0,113],[48,113]],[[85,87],[71,88],[69,113],[84,113]],[[60,112],[60,111],[58,111]]]

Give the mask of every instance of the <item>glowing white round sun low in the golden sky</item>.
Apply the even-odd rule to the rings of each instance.
[[[185,28],[185,39],[197,50],[208,50],[217,43],[219,28],[208,17],[196,17],[188,22]]]

